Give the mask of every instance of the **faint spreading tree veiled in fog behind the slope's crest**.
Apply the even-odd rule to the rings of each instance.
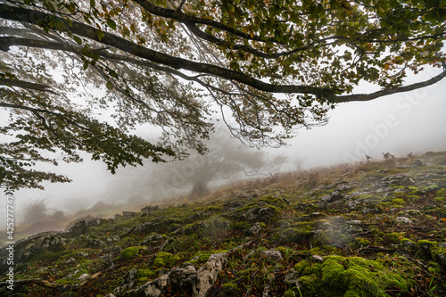
[[[206,142],[207,153],[193,153],[184,161],[156,165],[148,177],[149,186],[161,194],[170,188],[188,188],[190,196],[209,194],[209,184],[241,174],[244,177],[268,176],[285,163],[283,155],[249,149],[220,132]],[[161,193],[159,192],[161,188]],[[164,188],[164,189],[163,189]]]

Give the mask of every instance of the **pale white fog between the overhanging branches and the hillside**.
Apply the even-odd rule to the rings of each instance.
[[[433,75],[432,71],[425,71],[409,83]],[[366,93],[369,89],[365,87],[363,91],[358,89],[356,92]],[[382,160],[382,153],[386,152],[403,157],[408,153],[445,151],[446,81],[443,79],[432,87],[388,95],[371,102],[342,103],[329,111],[328,116],[325,126],[301,129],[289,141],[289,145],[268,149],[268,153],[283,153],[288,157],[288,162],[282,169],[293,170],[295,160],[303,161],[302,169],[310,169],[366,161],[366,153],[375,160]],[[142,133],[147,136],[152,135],[153,131],[148,128]],[[144,169],[121,169],[113,176],[100,161],[90,161],[87,154],[84,157],[83,163],[48,166],[49,170],[68,175],[72,182],[44,183],[45,191],[25,189],[16,192],[16,210],[20,210],[26,202],[42,197],[46,197],[50,207],[67,213],[91,207],[98,201],[126,202],[134,195],[132,191],[137,192],[137,185],[143,185],[148,177]],[[156,165],[149,168],[156,169],[153,166]],[[3,217],[5,204],[1,208]]]

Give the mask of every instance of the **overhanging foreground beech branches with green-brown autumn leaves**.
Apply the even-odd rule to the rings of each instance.
[[[34,169],[54,152],[112,172],[203,153],[216,117],[245,144],[284,144],[336,103],[440,81],[445,24],[445,0],[2,0],[0,184],[69,181]],[[404,84],[427,65],[443,71]],[[363,81],[376,91],[352,93]]]

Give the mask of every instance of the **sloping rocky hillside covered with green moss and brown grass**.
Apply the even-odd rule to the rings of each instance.
[[[446,153],[287,173],[14,246],[2,296],[446,296]]]

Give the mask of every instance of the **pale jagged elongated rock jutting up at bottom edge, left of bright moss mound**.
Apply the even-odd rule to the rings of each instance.
[[[211,254],[209,260],[197,272],[193,288],[194,297],[205,297],[207,295],[226,263],[227,252]]]

